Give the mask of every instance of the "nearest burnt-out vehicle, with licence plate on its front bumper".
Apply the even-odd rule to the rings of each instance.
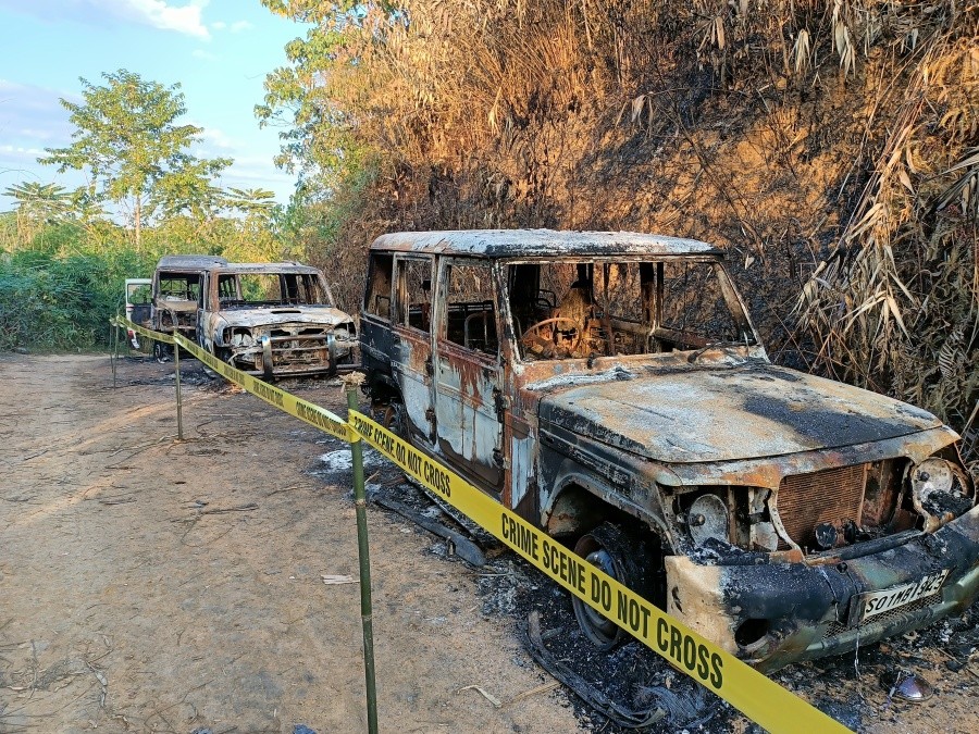
[[[361,314],[375,413],[755,667],[963,611],[979,508],[930,413],[772,364],[711,245],[388,234]],[[598,647],[625,635],[573,599]]]

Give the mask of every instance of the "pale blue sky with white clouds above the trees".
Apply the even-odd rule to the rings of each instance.
[[[78,77],[102,86],[102,73],[125,69],[181,84],[178,124],[203,128],[195,154],[235,160],[219,185],[267,188],[286,203],[295,177],[272,162],[278,130],[259,129],[253,108],[265,74],[286,63],[284,46],[305,33],[259,0],[0,0],[0,190],[79,186],[79,173],[37,163],[45,148],[71,144],[59,99],[82,101]],[[12,204],[0,196],[0,212]]]

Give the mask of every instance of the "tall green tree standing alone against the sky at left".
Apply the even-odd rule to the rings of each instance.
[[[210,179],[232,164],[227,158],[200,159],[189,148],[202,129],[178,125],[186,113],[181,85],[165,87],[124,69],[102,74],[106,86],[80,79],[82,103],[62,99],[76,129],[65,148],[47,148],[38,162],[87,171],[100,198],[128,216],[137,246],[157,207],[173,210],[184,197],[193,208]],[[156,195],[156,196],[154,196]]]

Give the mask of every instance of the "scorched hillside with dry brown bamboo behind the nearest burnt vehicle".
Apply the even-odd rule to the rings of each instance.
[[[718,242],[774,359],[968,424],[979,7],[404,0],[335,18],[306,13],[290,49],[293,153],[332,176],[310,247],[327,271],[361,274],[394,229]],[[348,308],[361,283],[339,285]]]

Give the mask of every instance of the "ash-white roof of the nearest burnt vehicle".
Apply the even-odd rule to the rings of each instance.
[[[469,254],[482,258],[616,254],[710,254],[723,251],[696,239],[634,232],[567,232],[555,229],[460,229],[396,232],[381,235],[372,250]]]

